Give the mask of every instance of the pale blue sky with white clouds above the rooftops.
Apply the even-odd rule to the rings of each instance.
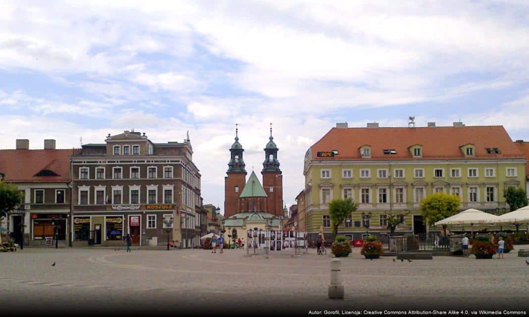
[[[4,0],[0,148],[189,131],[204,203],[222,209],[235,123],[258,175],[273,123],[288,207],[336,122],[461,120],[529,140],[527,65],[524,0]]]

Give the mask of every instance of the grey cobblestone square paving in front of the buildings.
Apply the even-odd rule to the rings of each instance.
[[[521,246],[517,246],[517,249]],[[523,248],[523,247],[522,247]],[[329,300],[330,256],[244,250],[43,249],[2,253],[0,306],[12,312],[527,309],[529,266],[504,260],[342,258],[344,300]],[[51,264],[56,262],[56,266]]]

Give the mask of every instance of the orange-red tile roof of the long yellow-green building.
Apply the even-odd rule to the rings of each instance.
[[[471,143],[477,159],[524,158],[501,125],[436,126],[421,128],[332,128],[312,146],[314,160],[362,159],[359,148],[371,146],[371,158],[387,160],[382,150],[395,149],[391,159],[463,159],[460,147]],[[412,157],[409,147],[421,144],[423,157]],[[485,148],[498,148],[500,154],[489,154]],[[335,157],[317,157],[318,151],[338,150]]]

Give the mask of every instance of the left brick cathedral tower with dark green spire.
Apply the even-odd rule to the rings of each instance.
[[[224,177],[224,216],[227,218],[237,212],[239,196],[246,184],[246,170],[242,159],[242,148],[239,143],[238,128],[235,124],[235,142],[230,148],[231,159],[228,163],[227,176]]]

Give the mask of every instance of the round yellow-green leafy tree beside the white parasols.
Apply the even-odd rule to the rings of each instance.
[[[421,212],[428,225],[454,215],[459,210],[461,200],[457,195],[435,193],[421,202]],[[445,226],[443,225],[443,228]]]

